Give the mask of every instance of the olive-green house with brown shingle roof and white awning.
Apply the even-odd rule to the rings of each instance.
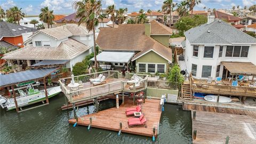
[[[170,35],[172,30],[156,20],[101,28],[96,41],[101,51],[97,60],[121,68],[134,66],[136,73],[167,73],[172,62]]]

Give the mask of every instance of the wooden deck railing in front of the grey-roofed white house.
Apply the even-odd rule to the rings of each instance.
[[[256,87],[192,83],[193,92],[256,97]]]

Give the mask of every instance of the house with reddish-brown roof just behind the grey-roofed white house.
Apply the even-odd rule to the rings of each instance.
[[[240,24],[241,18],[220,11],[213,11],[213,14],[215,15],[216,19],[224,20],[241,31],[244,30],[245,26]]]

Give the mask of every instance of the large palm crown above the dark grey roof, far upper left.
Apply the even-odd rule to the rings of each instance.
[[[13,18],[14,21],[18,22],[18,25],[20,25],[20,20],[25,17],[25,13],[21,12],[22,8],[18,8],[17,6],[11,7],[9,10],[6,11],[6,14],[9,18]]]

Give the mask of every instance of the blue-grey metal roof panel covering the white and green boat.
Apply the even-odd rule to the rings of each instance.
[[[7,85],[19,84],[26,81],[31,81],[34,79],[43,78],[50,75],[52,72],[58,68],[44,68],[44,69],[31,69],[26,71],[21,71],[18,73],[11,73],[7,75],[0,75],[0,87]]]

